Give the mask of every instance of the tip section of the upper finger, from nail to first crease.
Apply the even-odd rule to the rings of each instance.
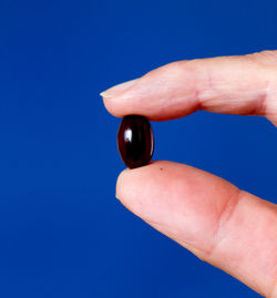
[[[177,119],[196,110],[194,68],[186,61],[172,62],[124,83],[124,91],[102,92],[106,110],[114,116],[140,114],[148,120]],[[185,82],[185,84],[184,84]],[[185,91],[184,91],[185,85]],[[183,92],[184,91],[184,92]],[[110,93],[112,92],[112,93]],[[185,104],[182,102],[185,101]]]

